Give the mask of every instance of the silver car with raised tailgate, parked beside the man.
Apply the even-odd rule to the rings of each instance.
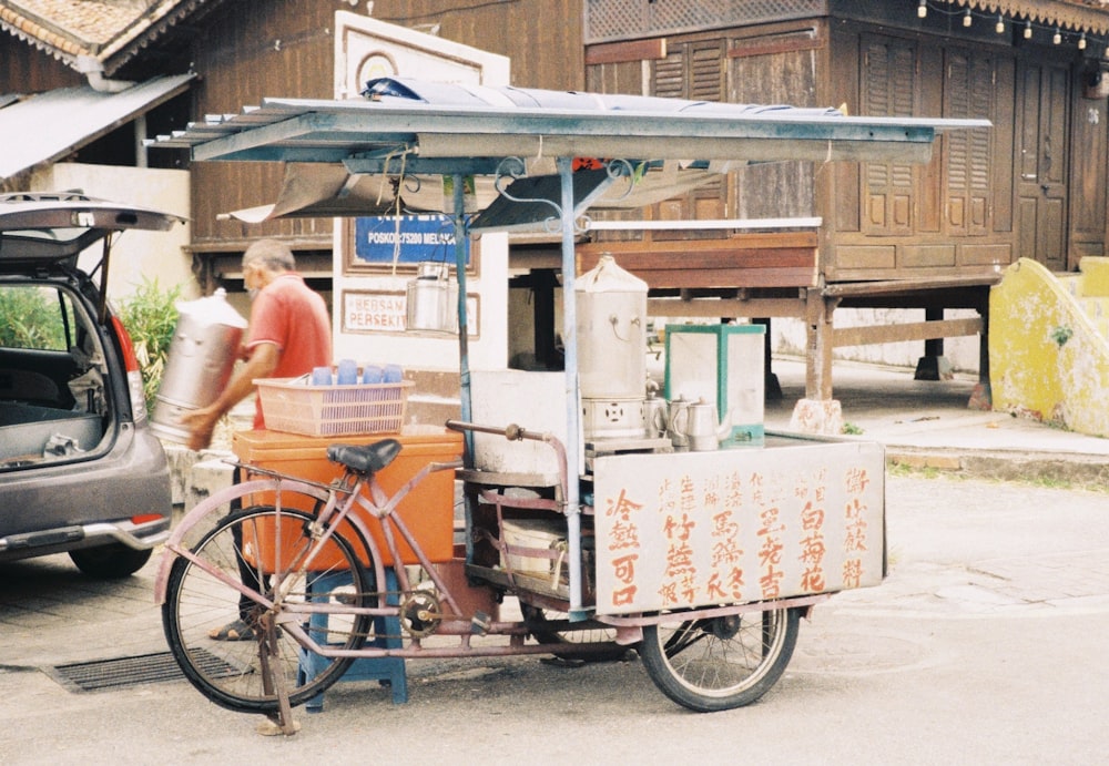
[[[77,193],[0,195],[0,562],[67,552],[123,578],[167,537],[170,469],[105,279],[119,232],[179,221]]]

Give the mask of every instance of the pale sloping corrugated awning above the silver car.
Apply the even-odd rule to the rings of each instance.
[[[119,93],[61,88],[0,108],[0,180],[72,154],[184,92],[195,76],[155,78]]]

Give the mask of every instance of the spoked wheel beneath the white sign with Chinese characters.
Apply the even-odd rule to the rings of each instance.
[[[795,609],[648,625],[640,653],[654,685],[692,711],[750,705],[790,664],[801,621]]]

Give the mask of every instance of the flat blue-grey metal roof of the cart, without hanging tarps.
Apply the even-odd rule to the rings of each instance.
[[[414,96],[267,99],[242,115],[220,115],[173,136],[160,136],[155,145],[187,147],[197,161],[338,162],[410,151],[425,161],[547,155],[923,162],[930,156],[937,132],[989,125],[986,120],[856,118],[780,105],[480,89],[511,91],[517,102],[525,93],[536,103],[558,104],[518,106],[477,98],[479,89],[445,83],[423,90],[439,100],[431,103],[420,98],[413,81],[390,82],[406,86]],[[458,91],[465,93],[442,95]]]

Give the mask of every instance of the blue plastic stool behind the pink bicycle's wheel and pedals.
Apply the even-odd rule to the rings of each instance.
[[[369,573],[369,586],[375,588],[374,573]],[[314,596],[312,589],[315,588],[323,593],[330,593],[337,588],[350,584],[350,574],[347,572],[336,572],[316,578],[308,589],[308,598],[316,601],[326,596]],[[396,606],[399,603],[397,586],[397,575],[391,569],[385,570],[385,590],[389,592],[386,603]],[[327,615],[313,614],[308,620],[308,634],[323,644],[327,640]],[[399,617],[374,617],[374,640],[366,642],[369,646],[380,646],[383,648],[400,648],[400,619]],[[302,683],[314,678],[332,661],[318,654],[302,648],[299,655],[299,680]],[[408,702],[408,675],[405,671],[404,657],[364,657],[350,663],[350,667],[343,674],[339,681],[379,681],[381,685],[388,685],[393,690],[393,704],[400,705]],[[309,713],[321,713],[324,709],[324,693],[321,692],[305,704],[305,709]]]

